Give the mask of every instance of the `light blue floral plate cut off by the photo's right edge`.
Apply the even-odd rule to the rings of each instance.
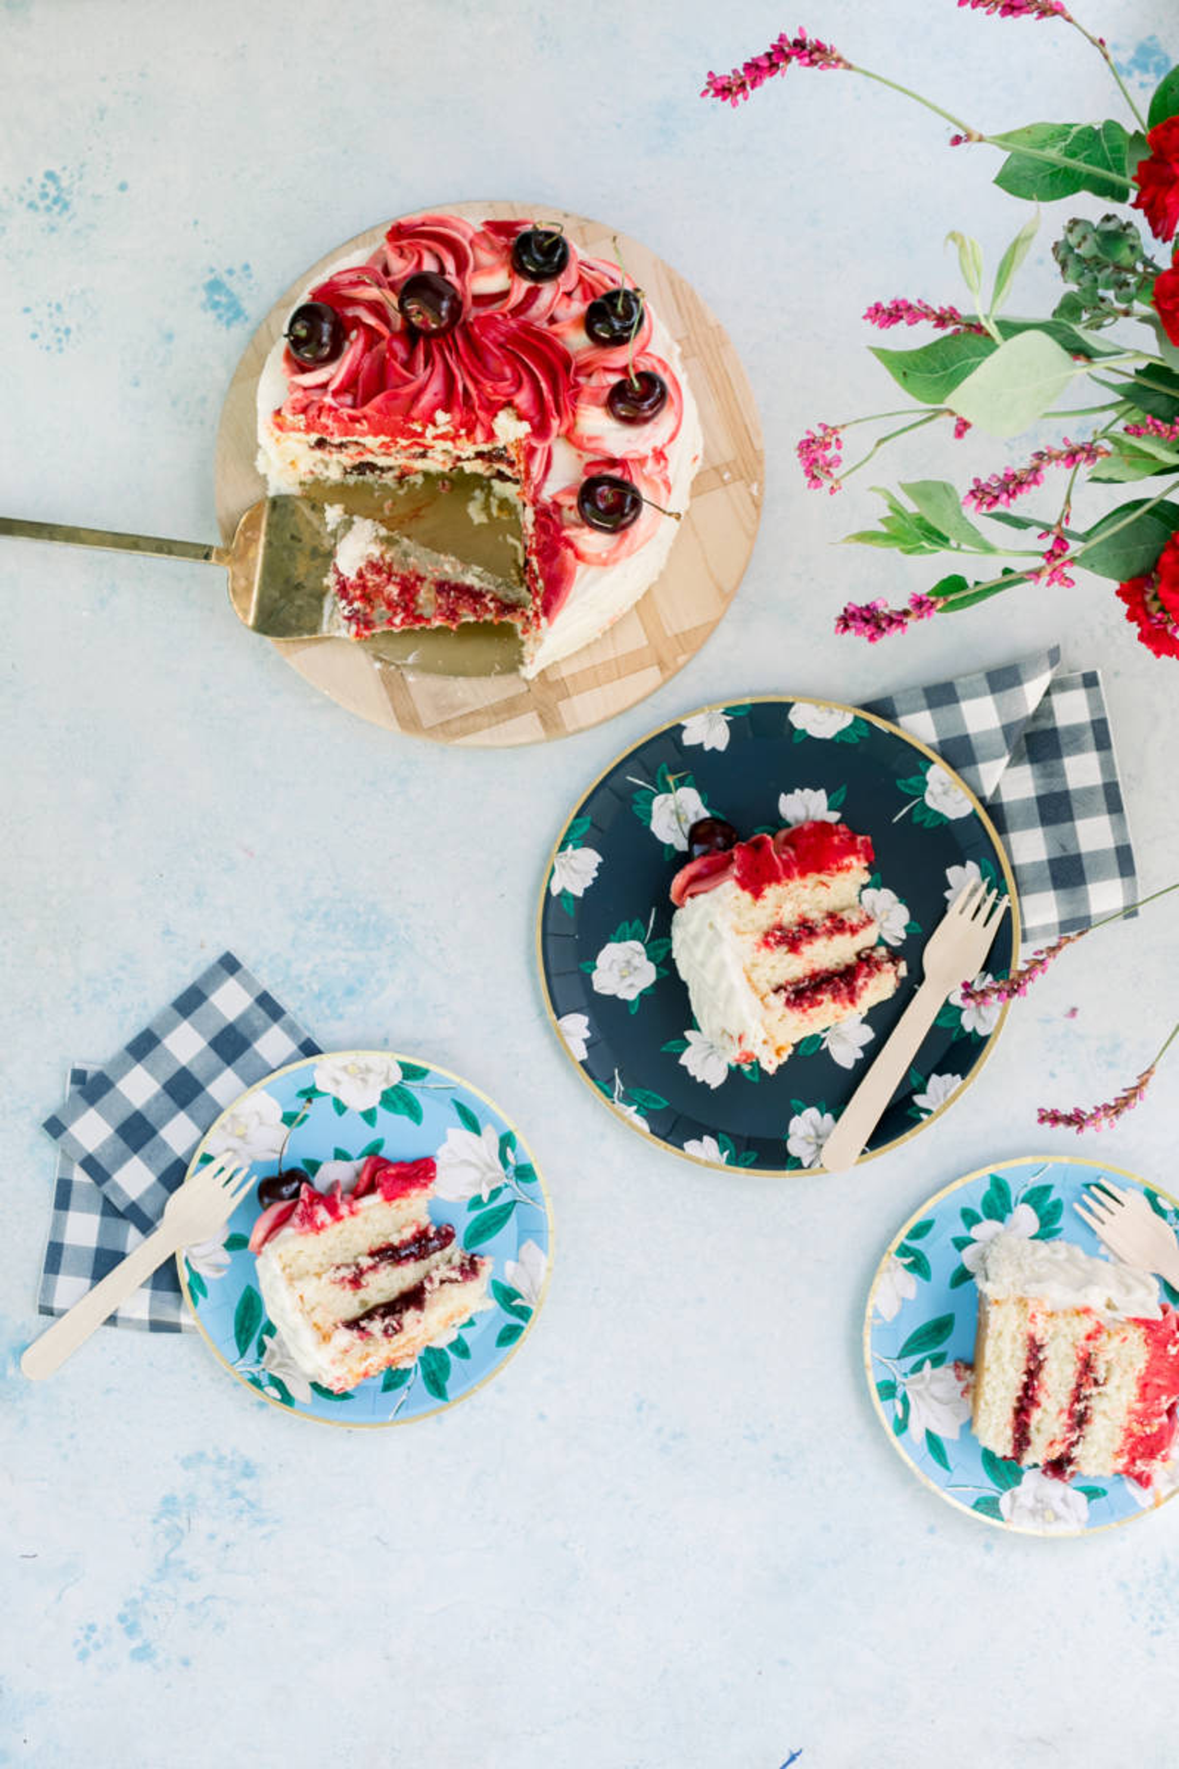
[[[1073,1210],[1101,1175],[1144,1192],[1179,1229],[1179,1203],[1133,1173],[1098,1160],[1027,1155],[979,1168],[935,1192],[886,1252],[868,1295],[864,1367],[880,1424],[914,1474],[951,1505],[1022,1535],[1087,1535],[1147,1516],[1179,1489],[1179,1456],[1145,1491],[1122,1475],[1053,1481],[983,1449],[955,1362],[974,1360],[974,1270],[1002,1228],[1069,1240],[1108,1258]],[[1179,1291],[1160,1279],[1165,1300]]]

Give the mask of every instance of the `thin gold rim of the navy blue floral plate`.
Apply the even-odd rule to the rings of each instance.
[[[856,718],[863,718],[870,725],[877,725],[880,731],[889,731],[889,732],[893,732],[893,736],[901,738],[905,743],[910,745],[910,748],[919,750],[921,755],[928,755],[930,761],[935,761],[937,766],[942,768],[946,771],[946,775],[949,775],[949,778],[958,787],[958,791],[962,793],[962,796],[970,801],[970,807],[972,807],[976,817],[983,824],[983,830],[986,831],[986,835],[992,839],[992,842],[995,846],[995,853],[999,854],[999,862],[1002,865],[1002,877],[1004,877],[1004,883],[1008,886],[1008,899],[1009,899],[1009,904],[1011,904],[1011,953],[1013,953],[1013,959],[1018,962],[1018,953],[1020,953],[1020,899],[1018,899],[1018,892],[1015,888],[1015,874],[1011,870],[1011,862],[1008,860],[1008,849],[1002,846],[1002,840],[999,839],[999,831],[995,830],[995,824],[986,816],[986,810],[983,808],[983,803],[979,801],[977,794],[970,791],[970,787],[962,778],[962,775],[955,768],[951,768],[937,754],[937,750],[932,750],[928,743],[921,741],[921,738],[910,736],[909,731],[903,731],[901,725],[896,725],[891,718],[880,718],[879,713],[866,713],[863,706],[848,706],[845,701],[825,701],[825,699],[820,699],[820,697],[811,695],[811,693],[748,693],[748,695],[739,695],[735,699],[734,699],[734,695],[728,695],[728,699],[725,699],[725,701],[709,701],[705,706],[696,706],[689,713],[679,713],[675,718],[668,718],[661,725],[654,725],[642,738],[636,738],[633,743],[628,743],[628,747],[624,750],[620,750],[613,757],[613,761],[608,762],[601,770],[601,773],[597,775],[597,778],[592,780],[578,794],[578,800],[576,800],[576,805],[573,807],[573,812],[569,812],[569,816],[564,817],[564,821],[560,824],[560,830],[557,831],[557,840],[553,842],[553,846],[551,846],[551,849],[548,853],[548,860],[544,863],[544,872],[541,876],[541,892],[539,892],[539,902],[537,902],[537,911],[536,911],[536,929],[534,929],[534,948],[536,948],[536,968],[537,968],[537,975],[541,978],[541,996],[544,999],[544,1014],[548,1017],[548,1022],[553,1028],[553,1035],[555,1035],[557,1044],[560,1045],[562,1053],[573,1063],[573,1067],[576,1068],[578,1076],[582,1077],[582,1081],[585,1083],[585,1086],[590,1090],[590,1093],[594,1095],[594,1099],[597,1100],[599,1106],[608,1106],[610,1111],[615,1114],[615,1118],[620,1118],[622,1123],[629,1125],[629,1129],[636,1136],[642,1136],[645,1143],[650,1143],[656,1148],[665,1148],[670,1155],[679,1155],[681,1160],[689,1160],[695,1168],[712,1168],[714,1173],[735,1173],[735,1171],[741,1171],[741,1173],[746,1173],[749,1176],[760,1176],[760,1178],[765,1178],[765,1180],[783,1180],[783,1178],[795,1180],[795,1178],[806,1178],[806,1176],[813,1178],[817,1175],[822,1175],[824,1168],[817,1166],[817,1168],[741,1168],[741,1169],[737,1169],[737,1168],[732,1168],[726,1160],[705,1160],[704,1155],[689,1155],[688,1150],[677,1148],[673,1143],[665,1143],[665,1141],[661,1141],[661,1137],[652,1136],[647,1130],[642,1130],[619,1106],[615,1106],[613,1100],[606,1099],[605,1093],[599,1093],[597,1086],[594,1084],[594,1077],[590,1074],[587,1074],[587,1070],[582,1067],[582,1063],[578,1063],[576,1056],[573,1054],[573,1051],[569,1049],[569,1045],[566,1044],[566,1040],[560,1037],[560,1028],[557,1026],[557,1015],[553,1014],[553,999],[551,999],[551,996],[548,992],[548,976],[544,973],[544,948],[543,948],[544,899],[546,899],[546,893],[548,893],[548,881],[550,881],[550,876],[551,876],[551,870],[553,870],[553,862],[557,860],[557,854],[560,851],[560,839],[562,839],[564,831],[569,828],[569,821],[571,821],[573,814],[576,812],[578,805],[583,805],[585,800],[592,793],[597,791],[597,787],[603,784],[603,780],[608,775],[612,775],[613,770],[620,762],[624,762],[628,755],[633,754],[633,750],[638,750],[645,743],[650,743],[652,738],[661,736],[661,732],[670,731],[673,725],[682,725],[686,720],[696,718],[702,713],[723,711],[726,706],[769,706],[769,704],[774,704],[774,702],[780,702],[783,706],[787,706],[787,704],[788,706],[831,706],[831,708],[834,708],[840,713],[852,713]],[[981,1047],[981,1051],[977,1054],[974,1068],[970,1070],[970,1074],[967,1076],[967,1079],[963,1081],[963,1084],[960,1088],[956,1088],[956,1091],[951,1093],[947,1100],[944,1100],[940,1106],[937,1106],[928,1114],[928,1118],[923,1118],[921,1123],[916,1123],[912,1127],[912,1130],[905,1130],[903,1136],[893,1137],[891,1143],[884,1143],[880,1148],[864,1150],[863,1155],[856,1157],[854,1166],[861,1168],[861,1166],[864,1166],[864,1162],[875,1160],[879,1155],[891,1153],[891,1150],[900,1148],[903,1143],[909,1143],[914,1136],[921,1136],[921,1132],[928,1125],[932,1125],[937,1118],[940,1118],[942,1113],[949,1111],[951,1106],[958,1104],[958,1100],[963,1097],[963,1093],[967,1091],[967,1088],[970,1088],[974,1084],[974,1081],[977,1079],[979,1070],[983,1068],[986,1058],[990,1056],[992,1049],[995,1047],[995,1040],[999,1038],[999,1033],[1004,1028],[1004,1022],[1008,1019],[1009,1008],[1011,1008],[1011,1003],[1004,1001],[1002,1007],[1000,1007],[1000,1010],[999,1010],[999,1019],[995,1021],[993,1028],[990,1030],[990,1033],[983,1040],[983,1047]]]

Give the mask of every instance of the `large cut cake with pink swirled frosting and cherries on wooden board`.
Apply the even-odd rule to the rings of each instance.
[[[272,494],[371,494],[352,509],[368,527],[341,536],[327,632],[511,621],[525,676],[654,582],[702,456],[675,340],[617,264],[559,226],[453,214],[394,221],[306,290],[258,382],[258,440]],[[442,541],[410,532],[401,490],[445,499],[456,476],[497,508],[468,504]],[[472,536],[507,506],[520,555],[490,584]]]

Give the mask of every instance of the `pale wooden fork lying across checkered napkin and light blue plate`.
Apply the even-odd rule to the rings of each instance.
[[[228,1222],[247,1191],[249,1166],[228,1155],[219,1155],[191,1173],[164,1205],[159,1228],[133,1247],[94,1290],[87,1290],[85,1297],[53,1321],[48,1332],[34,1339],[21,1357],[25,1375],[34,1380],[51,1376],[71,1352],[76,1352],[83,1339],[88,1339],[106,1316],[152,1275],[156,1267],[179,1247],[209,1240],[223,1222]]]

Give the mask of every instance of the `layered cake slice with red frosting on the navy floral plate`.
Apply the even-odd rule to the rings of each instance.
[[[871,840],[799,823],[691,860],[672,881],[672,957],[705,1038],[730,1063],[785,1063],[810,1033],[866,1014],[905,964],[859,902]]]

